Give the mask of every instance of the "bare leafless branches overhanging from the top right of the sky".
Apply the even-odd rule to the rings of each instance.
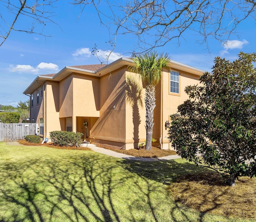
[[[74,0],[85,10],[94,6],[102,24],[111,30],[114,44],[116,36],[132,34],[138,39],[142,51],[180,43],[187,30],[198,34],[198,42],[215,38],[225,43],[246,18],[256,18],[255,0],[127,0],[118,4],[112,0]],[[100,5],[110,8],[106,14]],[[114,26],[113,26],[114,25]],[[113,29],[114,28],[114,29]]]

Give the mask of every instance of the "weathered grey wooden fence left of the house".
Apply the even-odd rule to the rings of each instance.
[[[35,123],[0,123],[0,141],[17,141],[26,135],[35,135]]]

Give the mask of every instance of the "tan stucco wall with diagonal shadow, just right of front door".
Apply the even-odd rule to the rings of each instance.
[[[124,143],[126,139],[125,68],[100,77],[100,118],[91,130],[91,138]]]

